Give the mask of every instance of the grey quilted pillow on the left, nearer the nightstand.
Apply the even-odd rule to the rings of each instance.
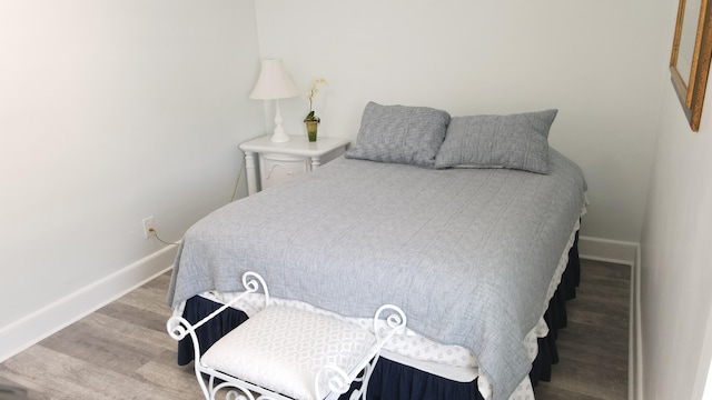
[[[368,102],[346,158],[433,168],[448,122],[442,110]]]

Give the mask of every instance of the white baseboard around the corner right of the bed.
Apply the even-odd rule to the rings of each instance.
[[[613,262],[631,268],[631,303],[629,306],[629,400],[642,399],[642,357],[640,332],[640,244],[620,240],[578,237],[582,259]]]

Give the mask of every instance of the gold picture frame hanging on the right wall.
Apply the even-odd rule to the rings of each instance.
[[[670,58],[672,84],[694,132],[700,130],[712,58],[710,4],[709,0],[680,0]]]

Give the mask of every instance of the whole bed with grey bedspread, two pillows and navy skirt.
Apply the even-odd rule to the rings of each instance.
[[[547,144],[555,116],[368,103],[345,157],[191,227],[168,303],[197,320],[254,270],[278,301],[354,323],[398,304],[409,334],[385,347],[370,398],[533,397],[556,358],[585,210],[581,169]]]

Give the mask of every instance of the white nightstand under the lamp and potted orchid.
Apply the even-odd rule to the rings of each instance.
[[[291,137],[285,143],[274,143],[269,138],[257,138],[239,146],[245,151],[248,194],[319,168],[344,153],[349,143],[348,139],[324,137],[310,142],[306,136]],[[259,169],[256,159],[259,159]]]

